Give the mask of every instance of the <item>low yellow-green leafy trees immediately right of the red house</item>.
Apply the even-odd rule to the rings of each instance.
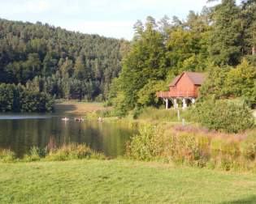
[[[202,100],[242,98],[250,107],[256,104],[256,69],[243,60],[234,68],[211,66],[207,79],[200,88]]]

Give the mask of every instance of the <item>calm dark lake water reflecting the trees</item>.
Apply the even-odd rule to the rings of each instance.
[[[46,147],[50,136],[57,146],[64,142],[86,143],[96,151],[116,157],[124,155],[125,142],[134,134],[125,126],[98,121],[62,121],[54,115],[0,115],[0,148],[10,148],[18,156],[30,147]]]

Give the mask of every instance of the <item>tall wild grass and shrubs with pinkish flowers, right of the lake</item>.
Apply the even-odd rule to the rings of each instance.
[[[132,159],[248,170],[256,167],[256,130],[222,134],[189,126],[145,125],[127,149]]]

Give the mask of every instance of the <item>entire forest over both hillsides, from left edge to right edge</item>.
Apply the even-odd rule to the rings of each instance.
[[[184,70],[208,74],[204,99],[256,104],[253,0],[222,0],[201,13],[190,11],[185,20],[165,15],[156,22],[149,16],[135,23],[130,42],[0,19],[0,42],[1,104],[14,103],[4,96],[12,84],[29,97],[46,95],[50,104],[51,98],[107,100],[115,115],[124,116],[163,104],[155,92]]]

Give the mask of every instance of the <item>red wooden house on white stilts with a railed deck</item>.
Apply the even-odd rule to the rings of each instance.
[[[158,91],[158,98],[162,98],[169,108],[171,100],[174,108],[178,108],[177,100],[182,100],[182,107],[186,108],[189,103],[195,103],[198,97],[198,88],[205,80],[205,74],[184,71],[169,84],[169,91]]]

